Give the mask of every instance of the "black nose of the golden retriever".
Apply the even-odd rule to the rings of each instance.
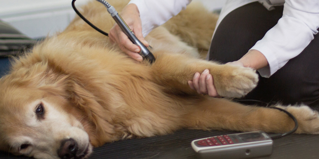
[[[62,140],[60,149],[58,150],[59,158],[61,159],[74,159],[78,151],[78,144],[74,139]]]

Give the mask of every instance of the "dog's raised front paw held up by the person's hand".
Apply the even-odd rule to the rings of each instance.
[[[223,65],[223,72],[212,75],[219,95],[242,97],[257,86],[258,75],[251,68]]]

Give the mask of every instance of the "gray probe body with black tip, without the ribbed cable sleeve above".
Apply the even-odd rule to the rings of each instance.
[[[122,31],[129,37],[129,39],[140,47],[141,51],[139,54],[147,59],[151,64],[155,61],[154,55],[150,52],[150,50],[145,47],[145,45],[135,36],[133,31],[130,29],[130,27],[124,22],[122,17],[117,13],[114,16],[112,16],[115,22],[120,26]]]

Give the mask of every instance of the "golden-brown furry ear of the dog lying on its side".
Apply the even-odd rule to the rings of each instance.
[[[93,146],[114,141],[114,126],[111,124],[111,113],[106,109],[106,103],[101,102],[81,80],[83,79],[71,74],[64,75],[54,83],[55,89],[69,102],[69,106],[82,115],[79,121],[85,125],[85,131]]]

